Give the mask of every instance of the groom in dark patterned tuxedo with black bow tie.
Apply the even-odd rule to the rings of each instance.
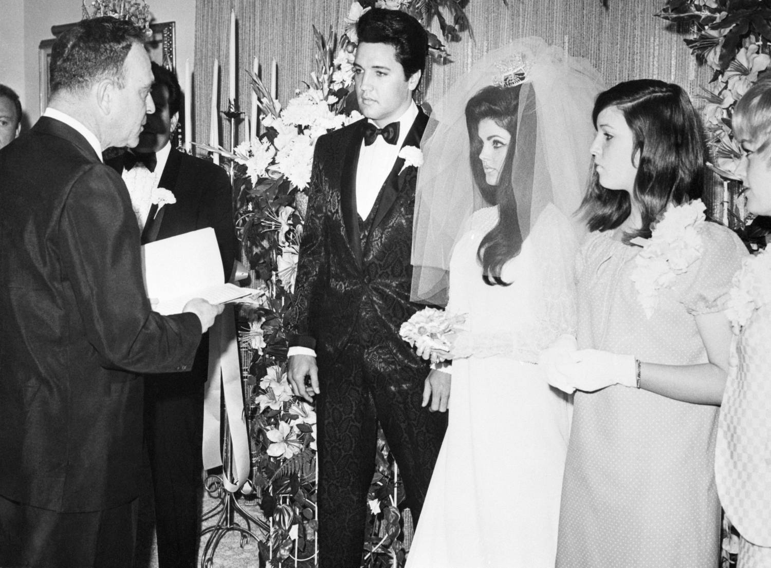
[[[357,34],[367,119],[318,139],[287,322],[289,380],[317,400],[323,568],[360,566],[377,423],[416,520],[446,429],[446,413],[422,408],[424,389],[446,405],[446,385],[426,385],[425,361],[399,338],[419,308],[409,301],[416,167],[402,149],[419,147],[428,121],[412,101],[426,32],[404,12],[372,8]]]

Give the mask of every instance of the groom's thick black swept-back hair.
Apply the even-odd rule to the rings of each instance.
[[[426,70],[429,37],[423,25],[401,10],[371,8],[356,24],[359,43],[385,43],[396,49],[396,61],[404,69],[406,79]]]

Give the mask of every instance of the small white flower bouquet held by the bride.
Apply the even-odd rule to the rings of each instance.
[[[401,338],[414,347],[422,358],[432,363],[447,359],[453,344],[450,341],[456,326],[463,324],[466,317],[450,315],[437,308],[423,308],[412,314],[399,328]]]

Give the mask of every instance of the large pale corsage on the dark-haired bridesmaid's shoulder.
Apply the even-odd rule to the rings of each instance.
[[[674,205],[670,203],[661,220],[653,229],[651,238],[637,237],[632,244],[642,250],[635,258],[631,279],[635,282],[638,300],[651,318],[658,305],[658,293],[672,287],[675,277],[688,271],[702,256],[702,237],[705,224],[705,205],[702,200]]]

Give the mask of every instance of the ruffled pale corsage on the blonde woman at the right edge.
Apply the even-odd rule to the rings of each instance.
[[[739,334],[752,314],[771,302],[771,253],[761,250],[742,260],[742,268],[733,277],[726,306],[726,316],[735,334]]]

